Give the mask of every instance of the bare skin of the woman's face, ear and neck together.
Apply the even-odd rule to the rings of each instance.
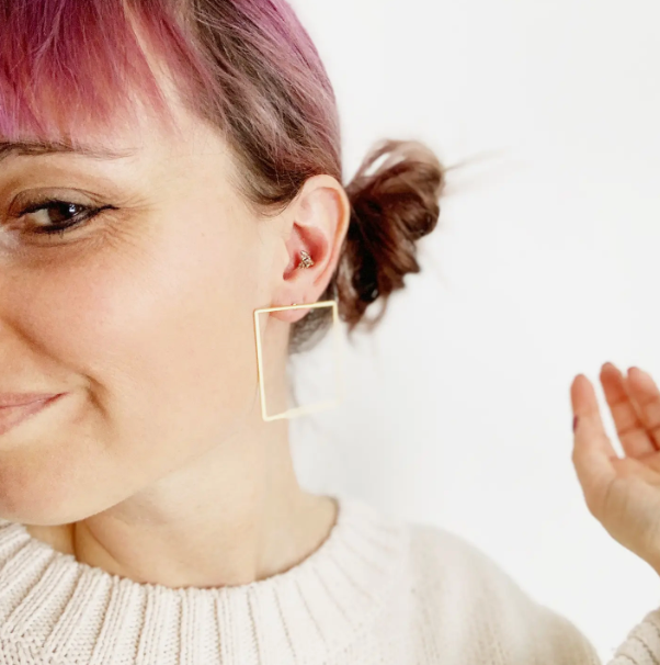
[[[132,157],[0,164],[0,392],[68,393],[0,436],[0,515],[137,582],[247,584],[309,556],[337,519],[296,480],[288,420],[262,420],[253,311],[319,300],[350,204],[317,176],[258,218],[227,146],[170,101],[180,136],[140,116],[96,137]],[[37,190],[117,210],[37,236],[61,222],[16,218]],[[314,267],[297,269],[301,249]],[[270,413],[308,312],[262,315]]]

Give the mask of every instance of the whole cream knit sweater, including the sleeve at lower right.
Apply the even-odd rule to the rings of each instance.
[[[0,664],[602,665],[468,541],[335,498],[300,564],[206,589],[111,575],[0,519]],[[610,663],[660,663],[660,609]]]

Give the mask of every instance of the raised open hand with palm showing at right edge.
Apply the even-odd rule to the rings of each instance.
[[[645,372],[633,368],[625,376],[611,363],[601,383],[625,457],[605,433],[591,382],[579,374],[571,385],[579,417],[572,461],[590,512],[660,573],[660,391]]]

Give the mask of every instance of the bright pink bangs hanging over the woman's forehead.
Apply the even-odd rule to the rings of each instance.
[[[206,78],[167,2],[4,0],[0,9],[0,140],[62,135],[71,142],[135,122],[136,101],[173,126],[170,108],[135,31],[164,61],[182,99]]]

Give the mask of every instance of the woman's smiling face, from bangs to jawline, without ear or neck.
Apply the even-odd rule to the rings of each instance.
[[[259,413],[252,315],[288,261],[283,227],[243,205],[219,137],[179,120],[182,138],[98,139],[133,156],[0,161],[0,393],[68,393],[0,436],[8,519],[93,515]],[[45,196],[77,206],[20,216]],[[105,210],[36,233],[88,207]]]

